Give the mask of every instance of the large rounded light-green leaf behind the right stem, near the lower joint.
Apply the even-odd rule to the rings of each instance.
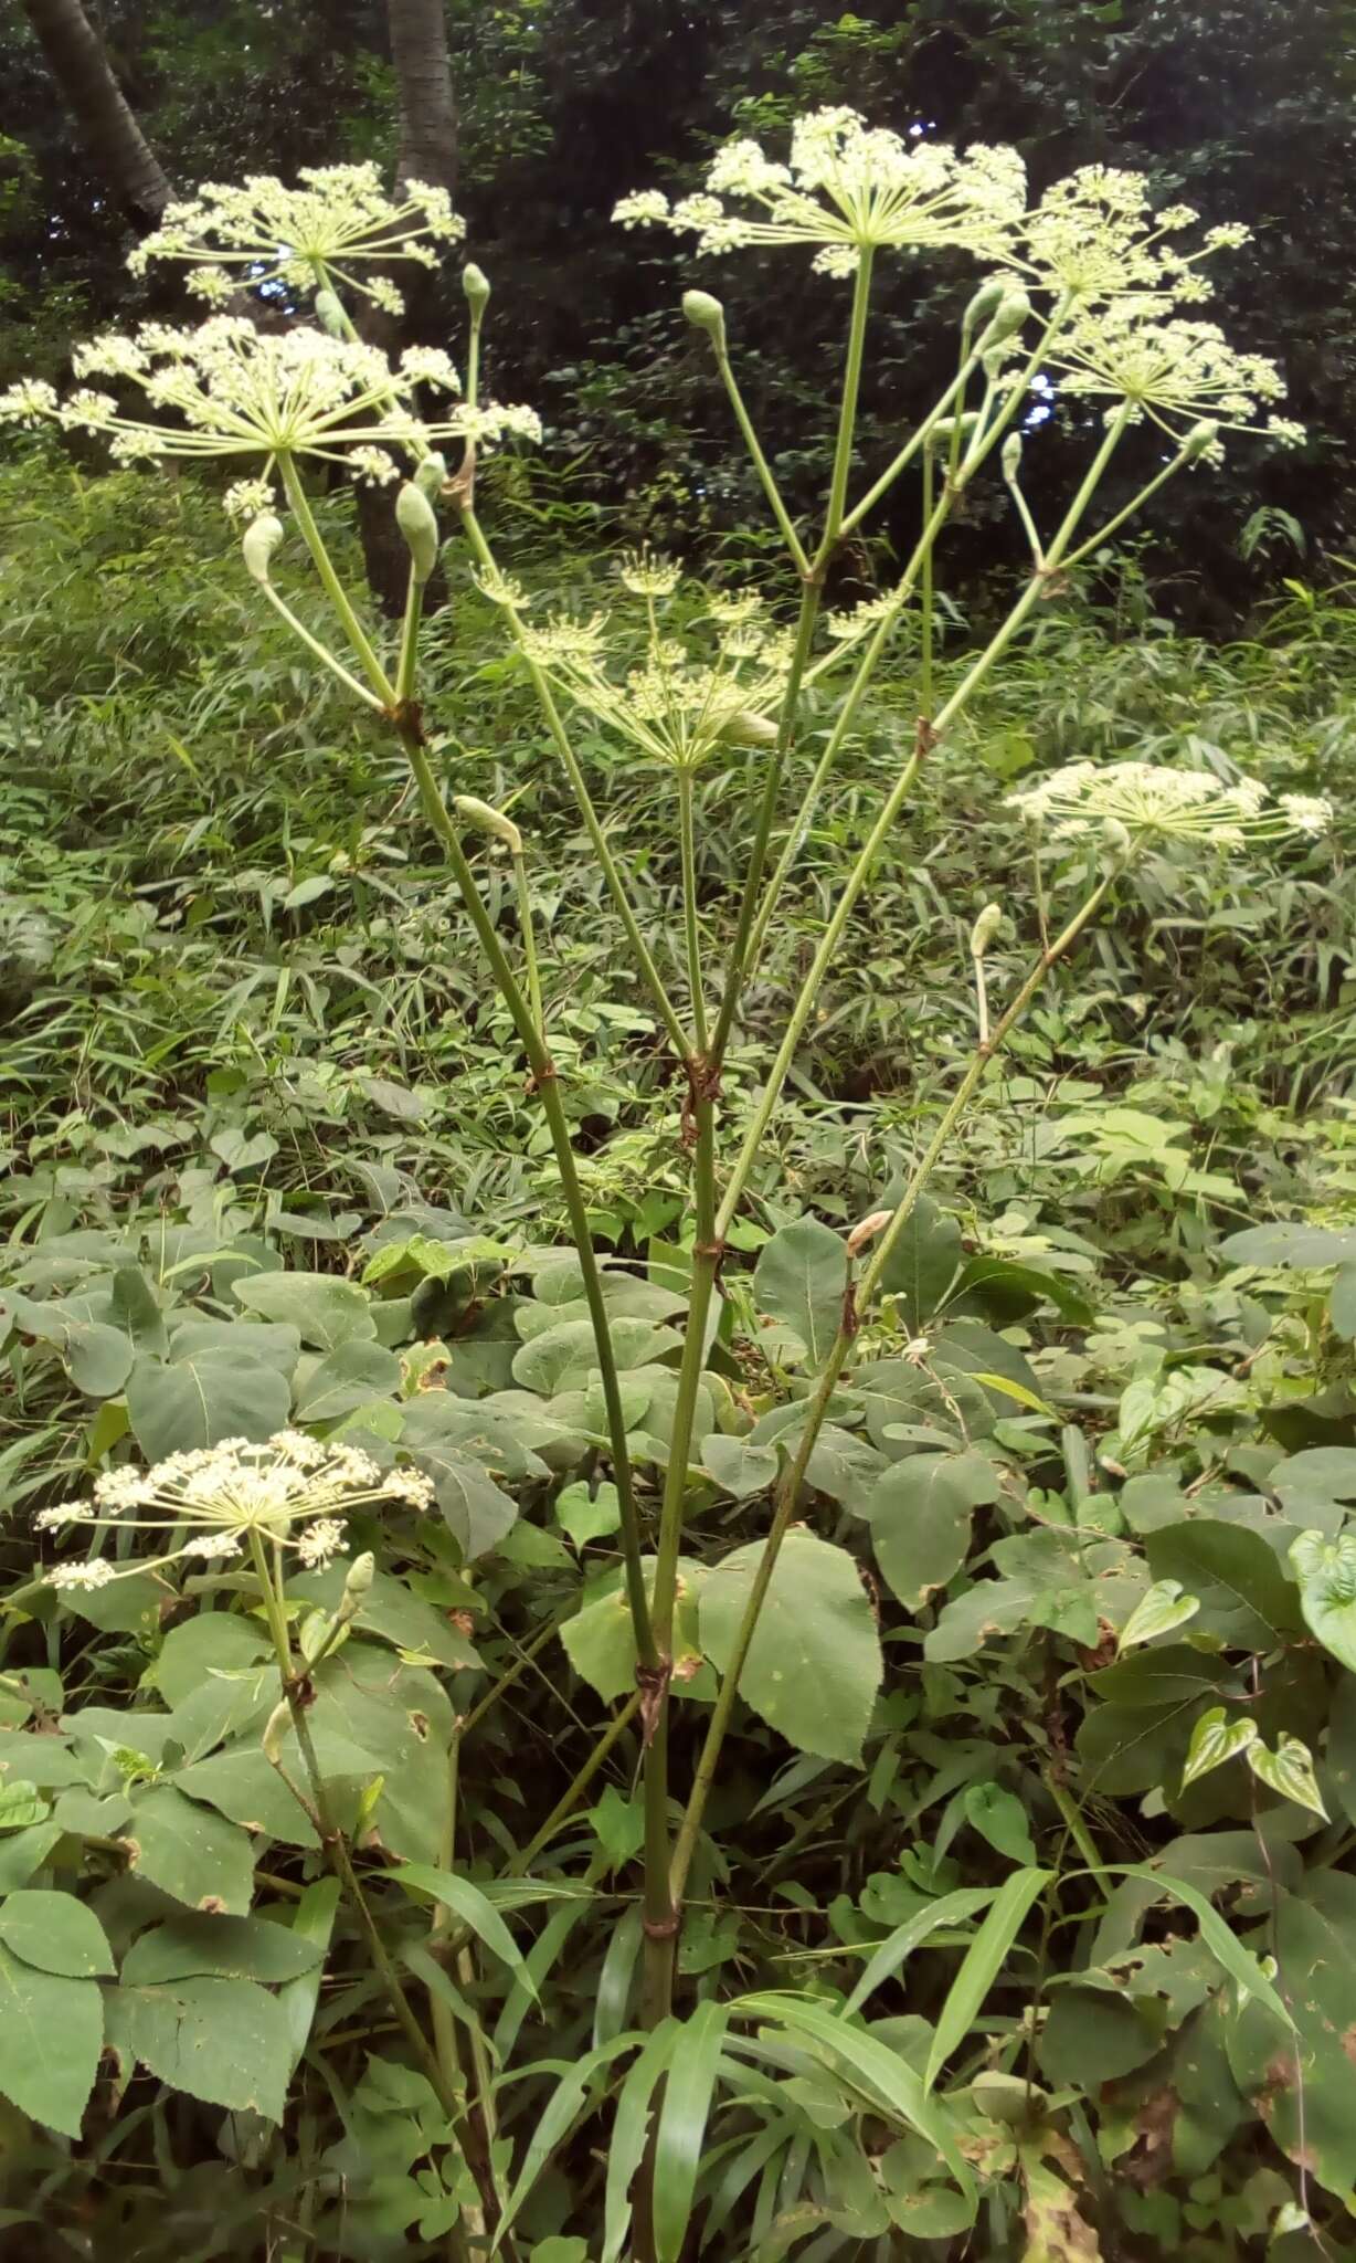
[[[698,1595],[701,1647],[725,1672],[764,1543],[707,1571]],[[857,1561],[814,1532],[782,1541],[739,1695],[768,1727],[825,1761],[861,1761],[881,1686],[881,1643]]]

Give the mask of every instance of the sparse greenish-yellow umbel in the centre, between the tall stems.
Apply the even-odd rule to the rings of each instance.
[[[658,604],[673,595],[683,570],[653,552],[628,552],[617,573],[646,606],[640,665],[626,668],[635,645],[626,627],[610,638],[603,613],[540,629],[520,622],[527,656],[588,715],[669,769],[696,769],[716,747],[766,745],[786,690],[789,638],[759,627],[757,609],[716,602],[710,634],[678,643],[662,634]],[[608,645],[621,665],[608,668]]]

